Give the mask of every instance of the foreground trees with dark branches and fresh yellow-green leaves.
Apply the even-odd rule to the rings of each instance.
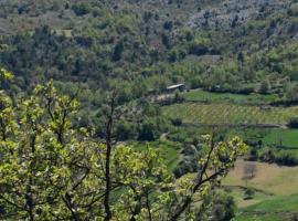
[[[0,76],[3,90],[13,77],[3,69]],[[117,93],[103,112],[104,139],[73,126],[78,107],[52,82],[25,97],[1,91],[2,220],[191,219],[193,201],[202,200],[246,150],[240,138],[215,144],[205,136],[200,169],[177,180],[157,149],[114,143]]]

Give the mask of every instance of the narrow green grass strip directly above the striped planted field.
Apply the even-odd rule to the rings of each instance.
[[[269,104],[278,99],[276,94],[231,94],[231,93],[212,93],[201,90],[194,90],[183,94],[185,101],[204,102],[204,103],[234,103],[234,104]]]

